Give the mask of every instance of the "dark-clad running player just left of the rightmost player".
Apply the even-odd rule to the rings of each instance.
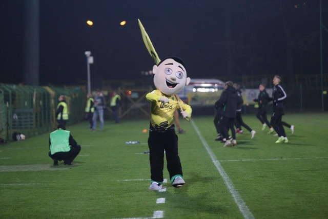
[[[270,96],[265,90],[265,84],[260,84],[259,88],[260,93],[258,94],[257,99],[253,99],[254,102],[258,103],[258,111],[256,113],[256,117],[262,123],[262,131],[264,131],[265,127],[269,127],[268,134],[271,134],[274,130],[270,125],[267,118],[268,104],[270,102]]]

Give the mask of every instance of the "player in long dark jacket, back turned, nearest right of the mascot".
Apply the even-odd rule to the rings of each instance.
[[[227,147],[230,145],[235,146],[237,144],[234,121],[237,113],[238,95],[231,81],[224,84],[224,89],[225,90],[221,94],[218,107],[223,107],[223,114],[220,123],[222,123],[222,131],[224,137],[223,141],[226,141],[226,143],[224,143],[224,147]],[[231,129],[232,142],[229,139],[229,129]]]

